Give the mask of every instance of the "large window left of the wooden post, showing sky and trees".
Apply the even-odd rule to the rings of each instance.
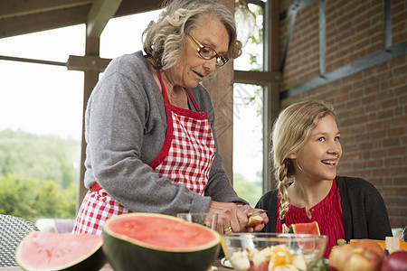
[[[76,25],[0,39],[0,48],[6,56],[66,62],[84,54],[84,37],[85,26]],[[22,61],[0,61],[0,73],[0,213],[73,219],[83,73]]]

